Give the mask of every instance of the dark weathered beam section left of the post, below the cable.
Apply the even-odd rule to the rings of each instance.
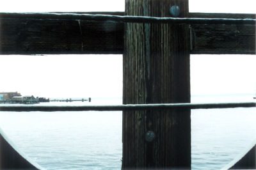
[[[124,26],[79,20],[0,20],[0,54],[122,54]]]

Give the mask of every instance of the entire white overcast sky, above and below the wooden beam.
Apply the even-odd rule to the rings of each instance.
[[[256,13],[255,6],[255,0],[189,0],[190,12]],[[89,11],[124,11],[124,1],[8,0],[0,6],[0,12]],[[0,63],[0,91],[38,97],[122,97],[122,55],[0,56]],[[191,55],[191,95],[255,93],[255,68],[252,55]]]

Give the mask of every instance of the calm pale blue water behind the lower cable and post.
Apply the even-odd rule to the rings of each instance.
[[[252,98],[201,96],[191,102],[253,102]],[[92,100],[90,104],[121,103]],[[256,138],[255,120],[252,108],[191,111],[192,168],[226,166]],[[120,169],[122,164],[122,112],[0,112],[0,127],[20,151],[45,169]]]

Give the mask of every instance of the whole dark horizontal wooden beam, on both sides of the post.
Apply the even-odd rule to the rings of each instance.
[[[122,54],[124,50],[122,23],[8,15],[12,17],[0,15],[0,54]],[[253,14],[230,13],[189,13],[189,17],[255,19]],[[255,54],[255,26],[191,25],[191,54]]]

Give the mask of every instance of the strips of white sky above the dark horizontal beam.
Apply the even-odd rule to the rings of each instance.
[[[122,12],[124,0],[8,0],[0,12]],[[189,12],[256,13],[255,0],[189,0]]]

